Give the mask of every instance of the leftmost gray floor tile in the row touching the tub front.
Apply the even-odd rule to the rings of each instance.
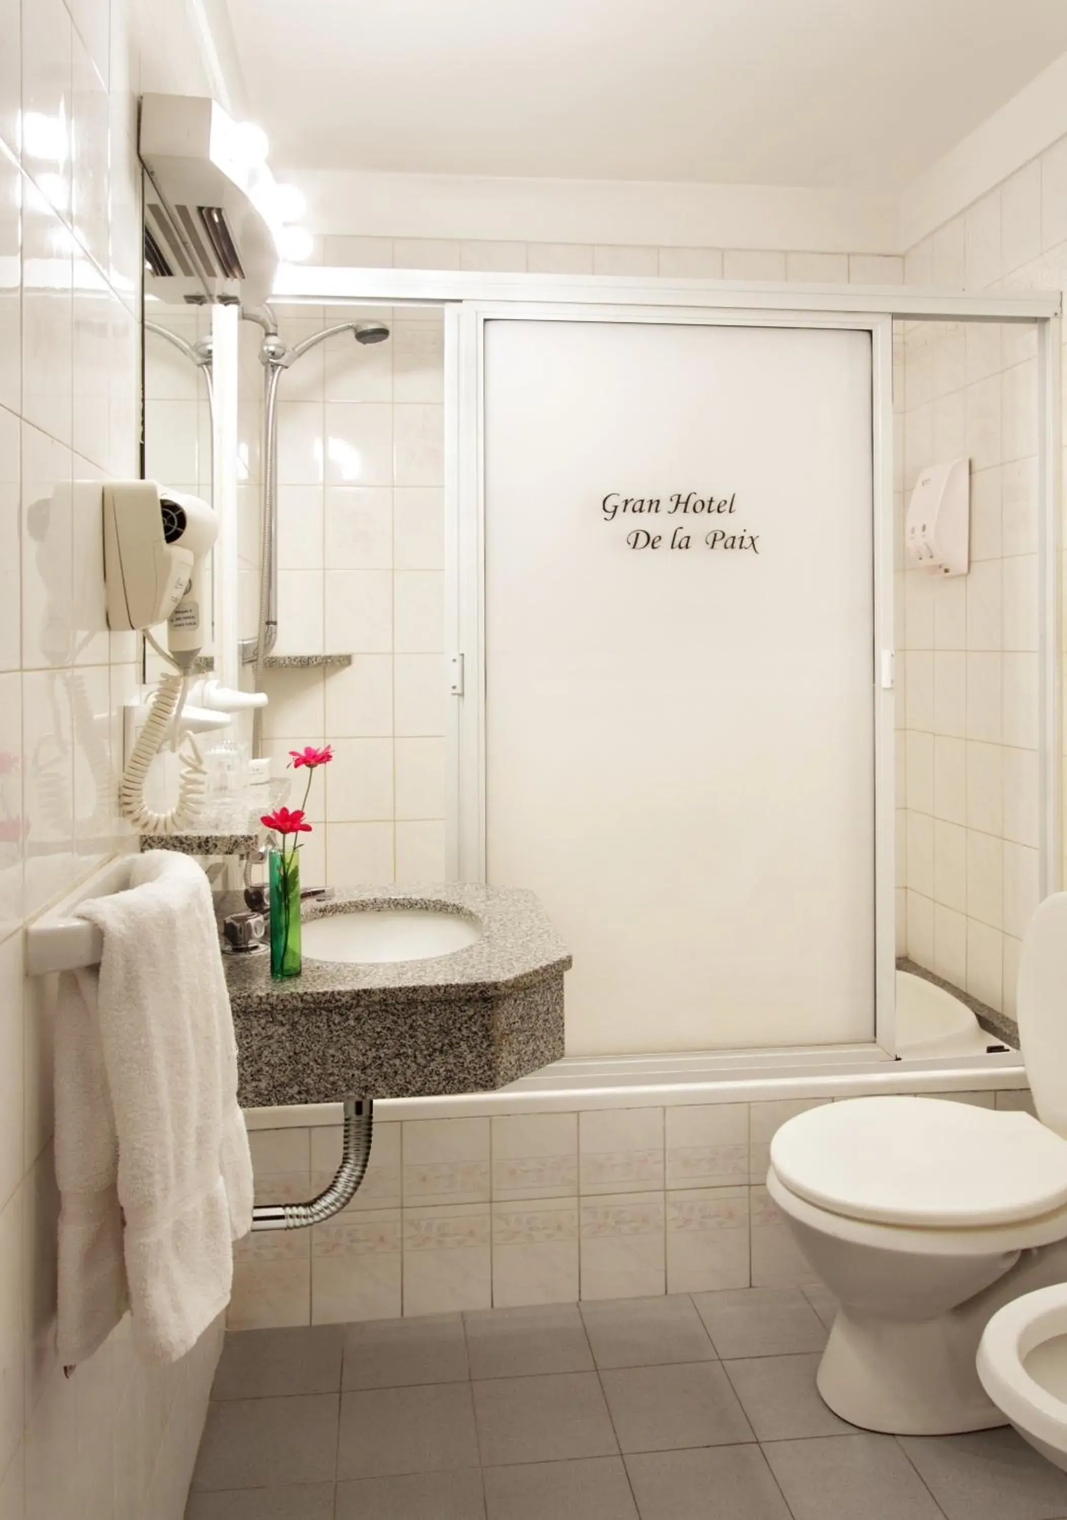
[[[222,1345],[211,1397],[336,1394],[344,1345],[344,1325],[231,1330]]]

